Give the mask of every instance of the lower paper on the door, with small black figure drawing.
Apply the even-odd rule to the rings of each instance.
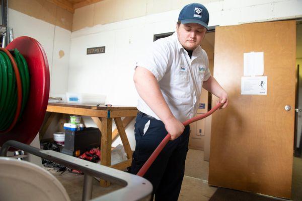
[[[267,76],[241,77],[242,95],[267,95]]]

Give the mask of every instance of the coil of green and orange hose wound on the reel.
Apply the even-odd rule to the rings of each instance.
[[[0,48],[0,133],[9,132],[20,119],[30,89],[28,66],[18,49]]]

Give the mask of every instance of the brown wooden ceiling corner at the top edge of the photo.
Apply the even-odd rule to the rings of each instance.
[[[71,13],[74,13],[75,9],[88,6],[103,0],[47,0],[62,9],[65,9]]]

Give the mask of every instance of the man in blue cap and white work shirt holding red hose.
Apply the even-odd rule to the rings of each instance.
[[[196,115],[201,87],[219,97],[222,108],[228,105],[228,95],[211,76],[208,57],[200,47],[208,21],[203,5],[185,6],[176,32],[155,41],[135,68],[140,97],[131,173],[138,172],[168,132],[172,139],[144,175],[153,184],[155,200],[178,199],[190,129],[182,122]]]

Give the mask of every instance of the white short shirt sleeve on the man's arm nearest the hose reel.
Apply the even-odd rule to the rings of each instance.
[[[149,70],[157,81],[160,81],[168,69],[169,59],[170,51],[168,44],[165,40],[159,39],[137,59],[135,68],[140,66]]]

